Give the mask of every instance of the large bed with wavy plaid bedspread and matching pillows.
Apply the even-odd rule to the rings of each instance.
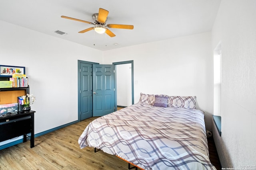
[[[80,148],[100,149],[144,170],[216,170],[204,112],[195,109],[195,97],[185,102],[187,97],[177,97],[141,93],[137,104],[89,123],[78,139]]]

